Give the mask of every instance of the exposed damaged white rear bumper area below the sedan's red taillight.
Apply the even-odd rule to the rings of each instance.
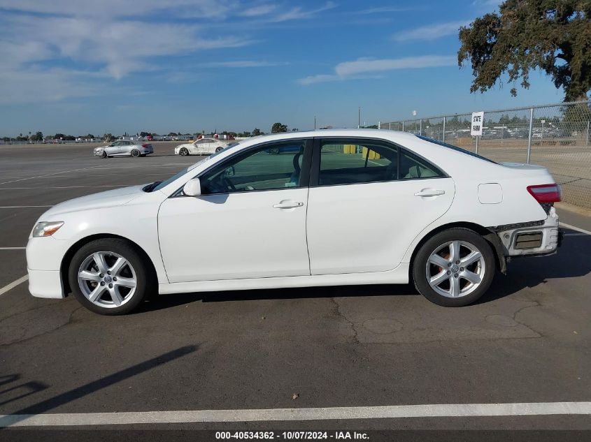
[[[546,220],[539,226],[516,227],[498,231],[505,256],[541,256],[556,252],[561,235],[558,214],[550,207]]]

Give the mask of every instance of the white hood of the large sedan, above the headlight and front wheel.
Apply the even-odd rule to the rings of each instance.
[[[57,214],[65,214],[69,212],[80,212],[81,210],[101,209],[104,207],[115,207],[124,205],[142,194],[141,186],[123,187],[122,189],[113,189],[112,191],[105,191],[93,193],[92,195],[81,196],[73,200],[60,202],[53,206],[45,214],[43,218],[48,219],[48,216]]]

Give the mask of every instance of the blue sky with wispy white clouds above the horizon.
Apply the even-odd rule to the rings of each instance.
[[[470,94],[457,29],[497,0],[0,0],[0,135],[352,127],[562,101]]]

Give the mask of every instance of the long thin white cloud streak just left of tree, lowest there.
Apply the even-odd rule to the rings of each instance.
[[[334,74],[311,75],[298,80],[299,84],[332,82],[341,80],[357,80],[359,78],[374,78],[376,73],[395,71],[398,69],[434,68],[440,66],[454,66],[455,56],[423,55],[419,57],[405,57],[400,59],[357,59],[339,63],[334,68]]]

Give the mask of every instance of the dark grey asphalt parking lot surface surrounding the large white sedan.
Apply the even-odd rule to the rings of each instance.
[[[84,145],[0,147],[0,415],[224,410],[232,420],[260,409],[591,400],[591,235],[569,228],[558,254],[513,260],[483,300],[460,309],[412,286],[334,286],[166,295],[106,317],[13,284],[48,207],[199,160],[173,156],[174,144],[106,160]],[[559,213],[591,230],[587,216]],[[591,429],[589,413],[454,410],[148,428]]]

